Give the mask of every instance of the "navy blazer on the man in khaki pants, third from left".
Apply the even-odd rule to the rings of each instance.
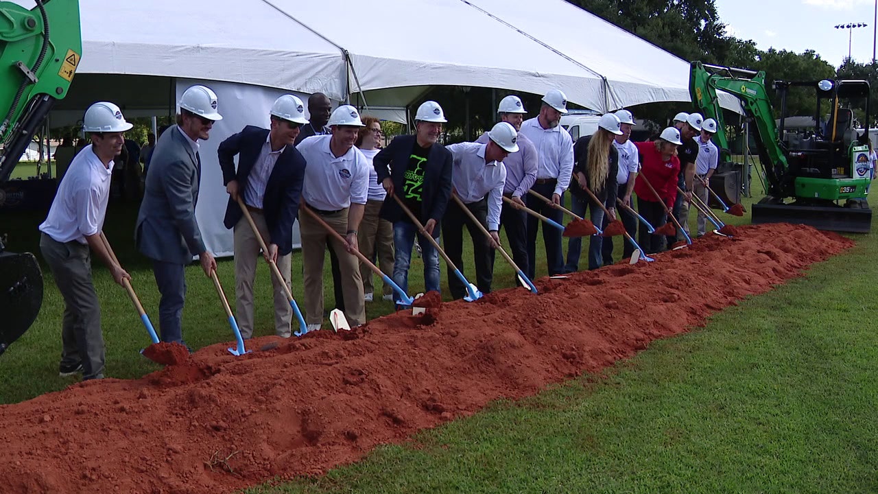
[[[232,180],[238,181],[238,193],[243,197],[247,189],[250,171],[263,144],[268,139],[269,130],[247,126],[219,144],[219,166],[222,168],[223,185]],[[238,170],[234,169],[234,156],[238,155]],[[293,145],[277,156],[263,195],[263,214],[269,227],[269,243],[277,244],[277,254],[285,256],[292,251],[292,225],[299,214],[299,197],[302,195],[302,181],[305,179],[305,157]],[[231,196],[226,206],[223,224],[227,229],[234,228],[243,213],[241,207]]]

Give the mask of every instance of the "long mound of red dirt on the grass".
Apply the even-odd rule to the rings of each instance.
[[[220,494],[319,474],[630,357],[853,245],[802,226],[739,230],[654,263],[543,278],[539,294],[514,288],[354,331],[259,338],[248,347],[261,350],[241,357],[212,345],[139,381],[2,406],[0,490]]]

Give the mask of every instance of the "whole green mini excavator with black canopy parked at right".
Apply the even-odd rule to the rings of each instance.
[[[872,226],[872,209],[866,197],[871,182],[868,169],[868,125],[858,132],[853,125],[853,110],[843,101],[865,102],[865,119],[869,122],[869,84],[867,81],[822,80],[806,82],[775,81],[774,90],[781,97],[781,120],[774,120],[768,98],[765,72],[692,62],[689,92],[693,105],[705,118],[715,119],[715,135],[720,161],[731,163],[729,142],[723,127],[723,113],[716,91],[738,98],[747,117],[755,125],[755,141],[762,167],[766,197],[752,205],[752,222],[791,222],[817,229],[868,232]],[[785,128],[787,96],[791,88],[814,91],[816,97],[813,127],[795,131]],[[825,104],[825,105],[824,105]],[[825,125],[822,116],[829,113]],[[722,179],[722,173],[718,172]],[[726,177],[738,177],[729,172]],[[731,185],[739,187],[734,180]]]

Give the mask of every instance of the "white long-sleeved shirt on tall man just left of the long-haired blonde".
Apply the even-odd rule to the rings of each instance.
[[[555,178],[555,193],[560,195],[570,186],[573,172],[573,139],[564,127],[543,128],[537,118],[524,120],[522,130],[536,147],[539,169],[536,179]]]

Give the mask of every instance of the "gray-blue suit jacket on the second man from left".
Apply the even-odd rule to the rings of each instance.
[[[200,178],[191,144],[176,125],[169,127],[155,143],[134,229],[134,243],[143,255],[189,264],[206,250],[195,221]]]

